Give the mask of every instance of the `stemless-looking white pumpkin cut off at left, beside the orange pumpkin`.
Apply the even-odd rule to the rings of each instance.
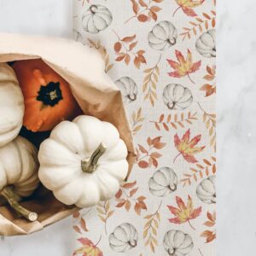
[[[24,99],[15,72],[0,63],[0,147],[17,137],[23,115]]]

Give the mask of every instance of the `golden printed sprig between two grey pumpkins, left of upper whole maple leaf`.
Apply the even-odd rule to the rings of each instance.
[[[159,80],[160,68],[158,66],[161,56],[159,60],[156,62],[154,67],[150,67],[144,70],[145,77],[143,79],[143,92],[145,93],[144,100],[149,100],[151,106],[154,107],[154,101],[157,100],[156,94],[156,84]]]

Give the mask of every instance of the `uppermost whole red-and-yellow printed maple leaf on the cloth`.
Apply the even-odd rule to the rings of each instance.
[[[201,67],[201,61],[193,63],[192,55],[188,49],[187,59],[185,60],[183,54],[179,50],[175,50],[177,61],[168,60],[169,65],[175,70],[174,72],[168,73],[170,77],[182,78],[188,76],[189,80],[193,83],[194,81],[190,78],[189,73],[195,73]]]

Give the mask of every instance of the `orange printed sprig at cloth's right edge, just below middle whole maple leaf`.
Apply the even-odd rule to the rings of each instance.
[[[203,159],[203,163],[195,164],[195,167],[191,167],[191,173],[184,173],[183,179],[181,179],[181,183],[183,183],[183,187],[185,185],[191,185],[192,180],[195,182],[198,181],[199,177],[203,178],[204,176],[208,177],[211,173],[216,173],[216,158],[212,156],[209,160]]]

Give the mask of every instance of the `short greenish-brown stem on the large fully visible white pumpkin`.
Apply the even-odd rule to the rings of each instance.
[[[107,148],[101,143],[98,148],[91,154],[90,159],[82,160],[81,167],[83,172],[92,173],[96,171],[98,160],[105,153]]]

